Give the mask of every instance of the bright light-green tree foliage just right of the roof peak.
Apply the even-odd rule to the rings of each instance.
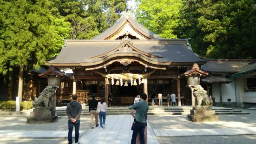
[[[137,0],[139,23],[164,39],[177,39],[182,0]]]

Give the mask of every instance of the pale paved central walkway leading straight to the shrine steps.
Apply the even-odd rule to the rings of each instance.
[[[100,126],[91,129],[80,138],[80,144],[131,144],[131,115],[110,115],[106,116],[106,128]],[[148,144],[159,144],[157,137],[147,124]]]

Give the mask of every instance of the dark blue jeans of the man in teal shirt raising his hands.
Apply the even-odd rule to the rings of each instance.
[[[145,131],[146,123],[140,123],[135,121],[132,131],[131,144],[136,144],[136,138],[139,133],[140,136],[140,144],[145,144],[144,140],[144,131]]]

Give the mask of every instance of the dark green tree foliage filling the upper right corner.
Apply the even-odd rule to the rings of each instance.
[[[256,59],[256,0],[184,0],[181,38],[216,59]]]

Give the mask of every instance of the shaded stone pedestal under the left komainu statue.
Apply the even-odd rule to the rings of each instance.
[[[28,118],[26,118],[27,124],[45,124],[45,123],[54,123],[58,121],[58,116],[56,116],[53,108],[39,108],[33,109],[30,112]]]

